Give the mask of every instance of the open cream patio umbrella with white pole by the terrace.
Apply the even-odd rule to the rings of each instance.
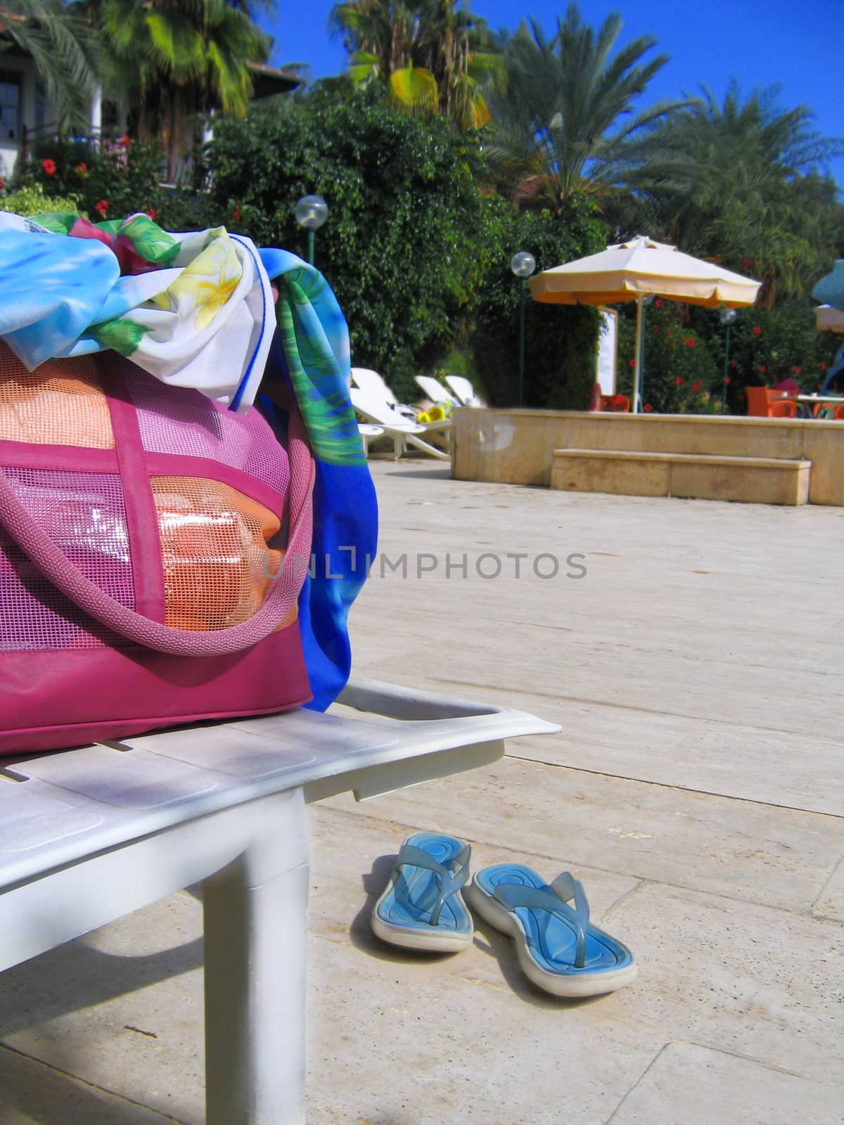
[[[709,308],[743,308],[756,299],[761,281],[683,254],[676,246],[637,235],[600,254],[542,270],[528,281],[535,300],[560,305],[636,302],[634,413],[639,408],[641,330],[645,299],[652,295]]]

